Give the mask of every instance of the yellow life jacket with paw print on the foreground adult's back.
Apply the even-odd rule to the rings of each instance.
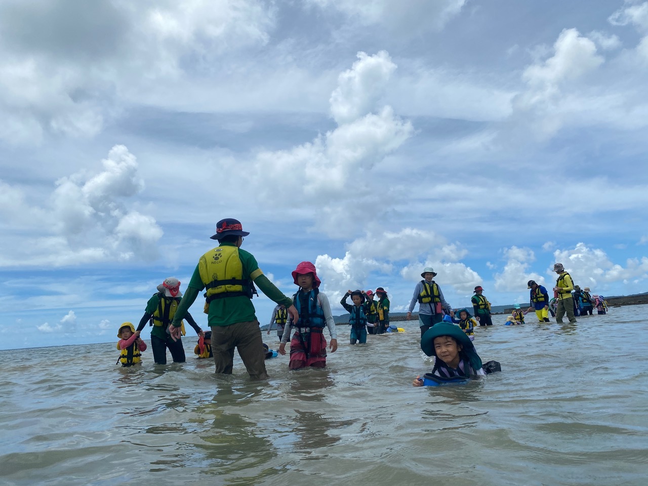
[[[251,281],[243,279],[243,264],[236,246],[219,246],[207,251],[198,261],[198,272],[207,290],[207,303],[238,295],[252,298]]]

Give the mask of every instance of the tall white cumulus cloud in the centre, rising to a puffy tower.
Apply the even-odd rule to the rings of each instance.
[[[375,198],[378,181],[371,169],[413,133],[409,121],[390,106],[370,112],[395,69],[387,52],[358,53],[358,61],[340,76],[330,97],[338,127],[290,150],[263,151],[253,161],[257,192],[273,203],[327,202],[340,214],[359,198]]]

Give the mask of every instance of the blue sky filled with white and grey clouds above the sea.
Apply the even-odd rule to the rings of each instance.
[[[334,314],[426,266],[452,307],[647,292],[647,80],[642,1],[5,0],[0,349],[116,341],[222,218]]]

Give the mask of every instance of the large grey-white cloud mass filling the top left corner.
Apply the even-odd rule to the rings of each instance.
[[[96,135],[116,111],[115,97],[209,71],[216,56],[264,45],[273,12],[260,0],[5,1],[0,139]]]

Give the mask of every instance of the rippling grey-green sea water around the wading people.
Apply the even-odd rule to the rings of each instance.
[[[326,369],[279,356],[264,382],[238,356],[214,375],[190,336],[184,364],[148,349],[122,368],[115,343],[0,351],[0,484],[643,486],[647,312],[494,316],[474,344],[502,373],[434,388],[411,386],[432,366],[414,321],[355,346],[339,326]]]

